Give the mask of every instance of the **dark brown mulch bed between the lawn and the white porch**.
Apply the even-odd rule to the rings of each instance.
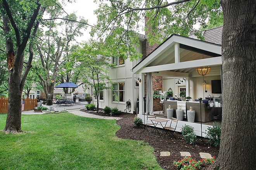
[[[102,110],[102,109],[100,109]],[[88,112],[88,110],[81,110],[83,112]],[[106,113],[99,112],[88,112],[90,114],[96,114],[99,116],[109,116]],[[122,139],[133,139],[133,140],[140,140],[146,143],[149,143],[150,146],[154,148],[154,154],[156,155],[157,162],[159,165],[165,170],[177,170],[173,166],[173,161],[181,160],[183,157],[180,155],[180,152],[189,152],[191,157],[199,161],[201,157],[199,155],[200,152],[205,152],[211,154],[215,158],[218,157],[219,147],[210,146],[207,143],[207,139],[197,137],[197,141],[194,145],[189,143],[185,143],[182,139],[181,133],[174,133],[176,139],[171,138],[168,139],[163,136],[156,137],[151,136],[151,131],[153,130],[152,127],[148,126],[148,131],[144,128],[136,128],[133,124],[133,118],[135,117],[134,114],[124,113],[122,112],[121,115],[112,116],[112,117],[122,117],[123,119],[119,119],[117,124],[121,127],[119,131],[116,132],[116,135]],[[170,156],[160,156],[160,152],[162,151],[169,151]],[[206,170],[210,164],[203,163],[201,165],[201,170]]]

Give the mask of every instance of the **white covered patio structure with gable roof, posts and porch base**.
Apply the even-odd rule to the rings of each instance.
[[[199,67],[208,66],[211,71],[205,76],[199,75],[195,70]],[[138,74],[141,80],[139,83],[139,101],[144,101],[143,97],[146,97],[146,109],[144,109],[144,102],[139,102],[138,117],[142,118],[145,123],[150,123],[151,121],[147,120],[146,115],[159,113],[152,111],[153,90],[152,87],[150,88],[152,80],[150,82],[149,76],[180,78],[185,81],[186,96],[190,96],[192,99],[198,99],[199,97],[205,99],[209,92],[206,93],[207,91],[204,90],[202,83],[204,81],[208,82],[207,87],[211,90],[211,80],[221,79],[221,66],[221,45],[173,34],[131,69],[133,74]],[[178,89],[178,85],[175,88]],[[159,116],[163,117],[163,114],[157,117]],[[166,117],[163,118],[167,119]],[[176,131],[180,131],[185,124],[194,127],[195,133],[201,136],[201,122],[178,121]],[[202,132],[211,125],[211,123],[202,122]]]

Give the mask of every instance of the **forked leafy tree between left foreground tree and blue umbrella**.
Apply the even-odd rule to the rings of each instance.
[[[61,9],[61,7],[50,7],[48,10],[50,18],[54,19],[62,15]],[[69,61],[68,55],[75,49],[71,46],[71,42],[75,40],[75,36],[82,35],[81,29],[86,28],[85,22],[87,22],[84,19],[81,19],[81,22],[76,22],[76,20],[77,17],[74,13],[64,17],[64,22],[60,24],[56,24],[55,20],[46,20],[48,31],[46,31],[45,36],[41,37],[40,40],[42,41],[37,45],[36,51],[40,56],[38,58],[40,65],[38,65],[37,74],[41,79],[45,94],[50,94],[51,99],[54,95],[54,86],[58,77],[60,77],[61,83],[69,82],[70,77],[72,77],[72,69],[66,69],[66,63]],[[57,26],[65,27],[64,33],[58,32],[56,30]],[[61,36],[64,37],[63,40]],[[61,68],[64,68],[64,70],[61,72],[61,76],[58,76]],[[66,81],[64,81],[64,78]],[[68,88],[64,88],[65,93],[68,93],[67,90]],[[52,100],[47,100],[47,102],[47,105],[52,105]]]

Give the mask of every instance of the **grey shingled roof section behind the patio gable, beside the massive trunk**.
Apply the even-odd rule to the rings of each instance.
[[[223,26],[219,26],[219,27],[205,30],[203,33],[203,37],[205,38],[205,41],[212,42],[214,44],[221,44],[222,28]]]

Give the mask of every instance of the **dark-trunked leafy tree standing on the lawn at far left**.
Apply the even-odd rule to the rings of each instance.
[[[71,2],[71,0],[68,0]],[[59,6],[56,0],[1,0],[0,16],[3,20],[1,35],[5,36],[8,77],[8,111],[6,133],[21,130],[21,99],[26,77],[32,67],[35,35],[47,7]],[[24,58],[26,53],[28,59]],[[24,68],[24,69],[23,69]]]

